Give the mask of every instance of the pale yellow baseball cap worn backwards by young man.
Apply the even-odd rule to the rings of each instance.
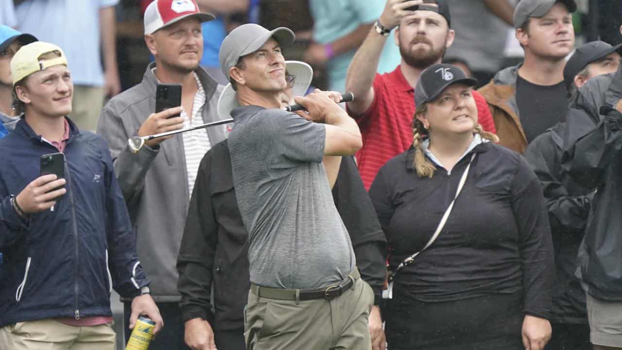
[[[48,52],[57,51],[60,57],[40,61],[40,57]],[[11,77],[13,78],[13,86],[23,78],[32,73],[45,70],[53,65],[67,66],[67,57],[65,52],[57,45],[49,42],[35,41],[31,44],[24,45],[17,50],[13,59],[11,59]]]

